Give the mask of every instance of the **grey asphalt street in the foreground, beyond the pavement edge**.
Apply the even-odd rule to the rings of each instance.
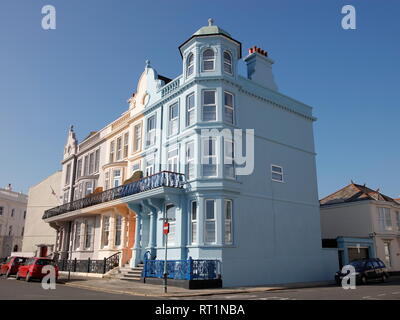
[[[113,293],[107,290],[87,290],[58,284],[56,290],[42,289],[40,282],[17,281],[15,278],[0,278],[0,300],[16,299],[62,299],[62,300],[400,300],[400,279],[387,283],[370,283],[344,290],[338,286],[285,289],[266,292],[215,294],[192,297],[149,297],[133,294]]]

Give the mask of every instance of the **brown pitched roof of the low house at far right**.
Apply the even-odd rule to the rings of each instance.
[[[356,201],[373,200],[388,201],[399,204],[395,199],[379,192],[379,189],[372,190],[365,185],[350,183],[346,187],[330,194],[319,201],[321,206],[333,205],[339,203],[349,203]]]

